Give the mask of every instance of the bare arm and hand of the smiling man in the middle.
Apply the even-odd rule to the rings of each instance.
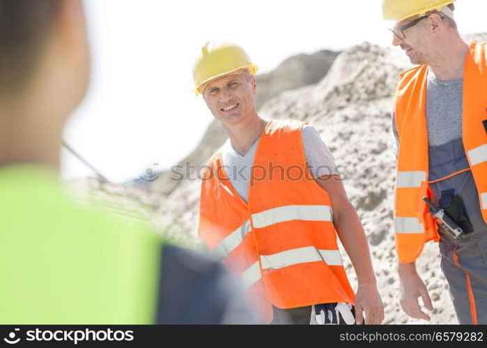
[[[369,244],[355,207],[348,200],[340,175],[322,175],[316,182],[330,196],[334,227],[357,274],[357,324],[362,324],[362,312],[365,312],[367,324],[380,324],[384,320],[384,305],[377,290]]]

